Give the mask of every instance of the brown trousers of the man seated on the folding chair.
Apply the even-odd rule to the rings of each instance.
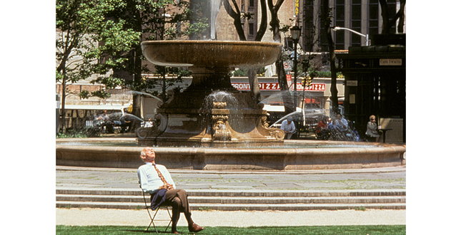
[[[165,195],[165,202],[163,204],[167,204],[172,206],[172,231],[176,231],[176,225],[179,221],[180,212],[184,213],[186,216],[187,224],[192,225],[194,221],[192,221],[192,213],[189,207],[189,201],[187,201],[187,193],[184,189],[170,189],[167,191]]]

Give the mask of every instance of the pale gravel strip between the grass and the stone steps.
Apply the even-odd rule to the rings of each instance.
[[[166,214],[159,214],[167,216]],[[406,210],[365,211],[192,211],[192,218],[201,226],[327,226],[327,225],[395,225],[406,224]],[[157,223],[166,226],[165,223]],[[147,226],[147,211],[122,209],[59,209],[56,225]],[[181,215],[178,226],[187,226]]]

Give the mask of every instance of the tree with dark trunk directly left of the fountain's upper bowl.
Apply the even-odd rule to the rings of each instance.
[[[122,23],[125,31],[134,31],[140,36],[129,45],[129,49],[117,54],[124,63],[113,67],[114,78],[107,80],[99,78],[94,82],[103,83],[107,86],[121,85],[123,88],[133,90],[133,111],[132,114],[141,117],[142,93],[150,93],[157,85],[163,85],[166,90],[164,79],[152,80],[143,78],[144,73],[154,73],[144,64],[141,42],[144,40],[170,40],[174,38],[187,38],[189,34],[200,33],[205,26],[203,24],[189,24],[191,11],[189,3],[184,0],[112,0],[117,1],[106,19]],[[159,69],[162,77],[165,77],[171,70],[169,68]],[[181,80],[181,76],[176,77]],[[115,82],[115,83],[114,83]],[[159,84],[160,83],[160,84]],[[154,95],[158,95],[155,93]],[[161,95],[164,97],[164,95]],[[138,123],[139,124],[139,123]]]

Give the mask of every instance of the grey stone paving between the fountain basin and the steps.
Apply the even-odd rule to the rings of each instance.
[[[406,167],[304,171],[170,170],[181,189],[405,189]],[[56,166],[56,187],[139,189],[137,169]]]

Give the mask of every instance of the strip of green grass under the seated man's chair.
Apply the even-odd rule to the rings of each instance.
[[[146,226],[56,226],[56,234],[62,235],[134,235],[134,234],[155,234],[153,228],[145,231]],[[157,227],[159,231],[164,231],[164,226]],[[252,226],[252,227],[207,227],[204,231],[197,234],[363,234],[363,235],[399,235],[406,234],[405,225],[368,225],[368,226]],[[169,234],[167,233],[162,234]],[[182,234],[189,234],[187,227],[179,226],[178,231]]]

